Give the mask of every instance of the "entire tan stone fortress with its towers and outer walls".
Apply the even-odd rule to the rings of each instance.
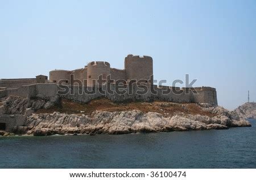
[[[74,79],[80,80],[79,84],[70,84],[70,76],[73,75]],[[111,79],[115,81],[119,79],[125,80],[126,85],[129,84],[131,80],[142,80],[142,83],[146,84],[147,87],[154,88],[157,92],[152,94],[150,91],[144,93],[143,95],[138,94],[124,94],[119,95],[106,93],[102,95],[99,92],[93,94],[80,94],[80,89],[82,87],[96,87],[95,80],[98,76],[102,76],[105,80],[105,85],[114,88],[115,85],[111,82],[107,82],[107,77],[111,76]],[[108,62],[104,61],[92,61],[89,62],[84,68],[77,70],[67,71],[67,70],[53,70],[49,72],[49,79],[47,76],[38,75],[36,78],[30,79],[1,79],[0,80],[0,98],[8,96],[21,96],[24,98],[51,98],[59,95],[58,92],[61,88],[60,82],[69,85],[72,89],[72,93],[67,95],[59,95],[63,98],[67,98],[73,101],[79,102],[89,102],[94,98],[105,97],[112,101],[169,101],[178,103],[207,103],[212,105],[217,105],[217,93],[215,88],[210,87],[196,87],[197,93],[193,93],[189,88],[178,88],[178,87],[168,87],[154,85],[152,82],[153,76],[153,60],[149,56],[140,57],[138,55],[127,55],[125,58],[125,68],[119,70],[117,68],[110,67]],[[64,82],[63,82],[64,79]],[[128,86],[128,85],[127,85]],[[134,89],[139,89],[137,84]],[[97,87],[96,87],[97,89]],[[170,90],[168,94],[163,93],[163,91]],[[180,93],[175,93],[179,90]],[[185,93],[188,90],[187,93]]]

